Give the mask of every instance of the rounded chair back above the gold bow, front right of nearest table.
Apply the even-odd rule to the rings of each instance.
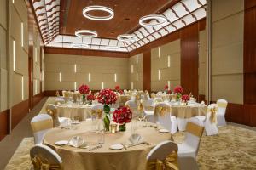
[[[166,140],[154,146],[152,150],[149,151],[147,160],[160,160],[166,159],[166,156],[170,155],[173,151],[177,152],[177,144]]]

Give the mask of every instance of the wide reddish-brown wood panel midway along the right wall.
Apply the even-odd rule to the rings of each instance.
[[[197,23],[181,31],[181,86],[184,93],[190,92],[198,98],[198,32]]]

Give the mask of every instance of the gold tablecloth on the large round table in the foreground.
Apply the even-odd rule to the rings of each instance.
[[[148,152],[160,142],[172,139],[171,133],[159,133],[154,127],[141,127],[137,130],[144,141],[150,145],[139,144],[127,150],[110,150],[112,144],[127,143],[131,135],[131,125],[126,124],[126,132],[106,133],[105,143],[101,149],[89,151],[94,147],[98,134],[90,131],[91,122],[82,122],[77,129],[61,129],[55,127],[44,136],[44,144],[55,149],[63,160],[64,169],[75,170],[143,170],[146,167]],[[89,149],[73,148],[71,146],[56,146],[58,140],[69,140],[79,135],[89,144]]]

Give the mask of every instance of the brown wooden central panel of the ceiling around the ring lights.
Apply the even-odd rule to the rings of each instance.
[[[119,34],[131,31],[138,25],[138,20],[148,14],[156,13],[172,0],[62,0],[61,10],[61,34],[74,35],[80,30],[97,31],[99,37],[116,39]],[[82,14],[83,8],[91,5],[101,5],[112,8],[114,17],[112,20],[90,20]],[[90,13],[96,16],[106,15],[100,12]]]

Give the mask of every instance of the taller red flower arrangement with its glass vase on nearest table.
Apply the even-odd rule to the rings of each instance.
[[[99,95],[97,96],[97,100],[99,103],[102,103],[104,105],[103,110],[105,115],[104,115],[103,121],[104,121],[105,130],[109,131],[109,124],[110,124],[109,105],[115,104],[117,100],[117,96],[111,89],[102,89]]]

